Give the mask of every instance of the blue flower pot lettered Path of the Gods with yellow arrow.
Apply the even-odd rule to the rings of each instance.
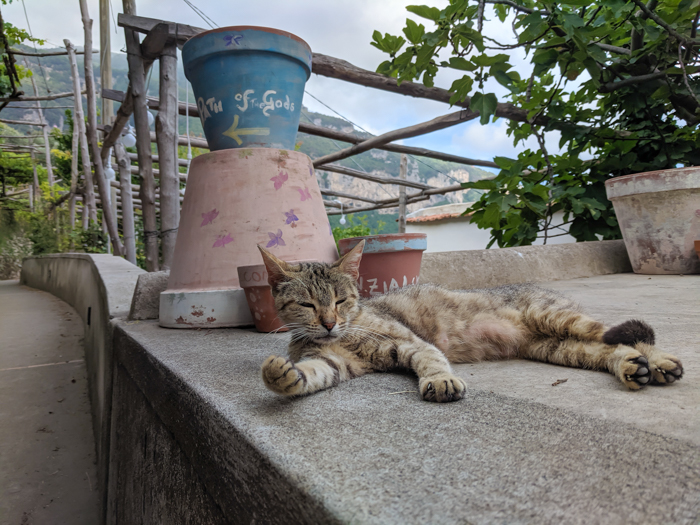
[[[182,48],[204,134],[212,151],[294,149],[311,48],[268,27],[222,27]]]

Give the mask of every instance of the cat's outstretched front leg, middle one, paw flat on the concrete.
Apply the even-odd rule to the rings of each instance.
[[[418,389],[425,401],[447,403],[464,397],[466,383],[452,373],[450,363],[440,350],[418,337],[394,348],[396,364],[418,375]]]

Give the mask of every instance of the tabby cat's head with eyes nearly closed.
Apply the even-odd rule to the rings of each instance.
[[[268,282],[280,319],[294,340],[338,340],[360,313],[357,278],[364,241],[333,264],[289,264],[262,246]]]

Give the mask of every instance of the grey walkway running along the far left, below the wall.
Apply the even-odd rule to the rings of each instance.
[[[99,523],[78,314],[0,282],[0,525]]]

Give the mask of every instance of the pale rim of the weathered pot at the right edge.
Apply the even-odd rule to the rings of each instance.
[[[699,166],[632,173],[605,181],[609,200],[643,193],[689,189],[700,189]]]

